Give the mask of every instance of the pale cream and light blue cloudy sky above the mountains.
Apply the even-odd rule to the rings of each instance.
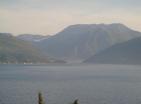
[[[100,23],[141,31],[141,0],[0,0],[0,32],[54,35],[69,25]]]

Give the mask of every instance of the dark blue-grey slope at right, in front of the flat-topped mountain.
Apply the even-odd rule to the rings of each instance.
[[[114,45],[84,62],[141,65],[141,37]]]

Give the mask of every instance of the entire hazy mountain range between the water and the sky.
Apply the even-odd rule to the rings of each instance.
[[[141,64],[140,46],[141,33],[119,23],[71,25],[53,36],[0,33],[0,63]]]

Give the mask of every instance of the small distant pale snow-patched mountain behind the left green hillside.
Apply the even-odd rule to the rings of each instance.
[[[30,41],[30,42],[39,42],[43,39],[47,39],[50,36],[43,36],[43,35],[33,35],[33,34],[21,34],[18,35],[17,38],[18,39],[22,39],[25,41]]]

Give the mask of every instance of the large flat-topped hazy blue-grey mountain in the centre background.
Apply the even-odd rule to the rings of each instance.
[[[141,36],[123,24],[78,24],[39,42],[40,47],[54,58],[83,61],[112,45]]]

